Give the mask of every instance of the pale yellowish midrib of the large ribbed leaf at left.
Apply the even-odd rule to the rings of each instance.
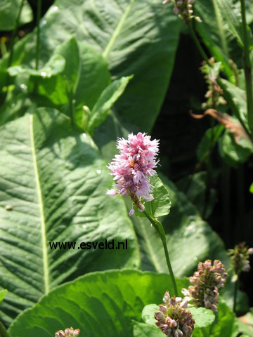
[[[30,141],[32,148],[32,161],[34,164],[34,178],[36,183],[37,197],[39,203],[39,213],[41,220],[41,240],[42,240],[42,259],[44,270],[44,291],[49,292],[49,270],[48,270],[48,253],[46,248],[46,222],[44,216],[43,197],[41,191],[41,183],[39,181],[39,169],[37,165],[37,155],[34,144],[34,130],[33,130],[33,114],[30,114]]]

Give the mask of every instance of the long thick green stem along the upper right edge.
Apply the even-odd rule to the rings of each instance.
[[[247,119],[250,131],[253,133],[253,92],[252,92],[252,67],[249,58],[249,39],[247,34],[247,21],[245,0],[240,0],[242,15],[242,38],[243,38],[243,64],[247,93]]]

